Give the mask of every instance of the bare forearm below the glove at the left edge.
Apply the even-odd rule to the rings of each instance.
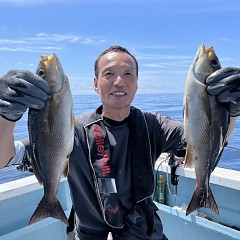
[[[15,122],[0,116],[0,168],[5,167],[15,156],[13,129]]]

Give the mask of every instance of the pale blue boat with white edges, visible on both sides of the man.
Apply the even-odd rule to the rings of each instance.
[[[160,165],[159,165],[160,164]],[[164,154],[155,165],[156,174],[164,173],[170,179],[170,167],[164,161]],[[211,174],[211,188],[219,205],[220,215],[216,216],[207,209],[201,209],[202,216],[186,216],[183,206],[189,203],[196,179],[194,169],[179,167],[178,193],[175,196],[173,186],[169,185],[167,205],[156,203],[169,240],[239,240],[240,232],[228,225],[240,228],[240,209],[236,199],[240,199],[240,172],[216,168]],[[39,203],[43,187],[35,176],[30,176],[0,185],[0,240],[66,240],[66,225],[57,219],[45,219],[28,226],[27,223]],[[66,178],[62,178],[58,193],[60,202],[68,216],[71,210],[71,198]],[[176,206],[175,206],[176,205]],[[13,219],[14,217],[14,219]],[[224,223],[224,225],[222,224]]]

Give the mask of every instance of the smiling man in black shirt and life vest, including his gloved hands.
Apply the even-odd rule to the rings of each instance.
[[[238,69],[228,68],[215,74],[209,86],[234,116],[240,114],[237,78]],[[94,88],[102,106],[76,117],[68,174],[76,239],[107,239],[108,232],[113,239],[167,239],[151,198],[154,163],[162,152],[177,154],[184,144],[183,126],[131,107],[137,80],[137,60],[121,46],[107,49],[95,62]],[[11,71],[0,79],[1,167],[19,156],[14,122],[27,108],[42,108],[48,92],[49,86],[27,71]]]

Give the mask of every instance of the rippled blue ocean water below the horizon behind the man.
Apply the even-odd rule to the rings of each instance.
[[[99,95],[75,95],[73,96],[74,112],[80,115],[84,112],[95,109],[100,105]],[[133,106],[144,111],[159,112],[170,116],[173,119],[182,121],[183,94],[182,93],[161,93],[161,94],[137,94]],[[28,137],[27,113],[16,123],[14,131],[15,139],[20,140]],[[228,146],[218,163],[218,167],[240,171],[240,120],[237,119],[232,137]],[[18,178],[29,176],[31,173],[19,172],[16,169],[9,169],[0,172],[0,183],[12,181]]]

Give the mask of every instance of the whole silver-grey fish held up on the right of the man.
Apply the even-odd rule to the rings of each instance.
[[[229,114],[215,96],[208,94],[206,78],[220,68],[213,47],[201,45],[188,72],[184,93],[186,166],[195,167],[196,189],[186,215],[201,207],[219,214],[209,180],[226,144]]]

